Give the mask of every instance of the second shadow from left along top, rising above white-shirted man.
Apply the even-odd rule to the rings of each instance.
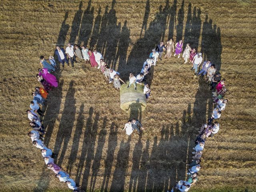
[[[76,37],[78,36],[79,28],[80,28],[80,23],[81,23],[81,18],[82,18],[82,1],[80,1],[79,8],[73,18],[72,25],[71,25],[71,32],[70,32],[70,43],[75,43]]]

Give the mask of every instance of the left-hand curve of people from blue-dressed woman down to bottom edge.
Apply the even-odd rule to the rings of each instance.
[[[30,121],[29,125],[32,128],[27,135],[31,138],[32,144],[36,148],[40,149],[42,159],[44,160],[47,168],[55,173],[56,178],[58,178],[61,182],[65,182],[70,189],[78,191],[79,188],[76,186],[76,182],[70,178],[67,172],[54,163],[56,154],[54,154],[51,149],[44,145],[44,135],[46,131],[40,118],[44,116],[42,107],[47,101],[50,90],[52,90],[53,87],[58,87],[58,80],[52,74],[57,68],[53,56],[50,56],[47,60],[44,58],[44,56],[40,56],[40,65],[42,68],[38,69],[39,73],[36,75],[36,78],[42,84],[42,87],[35,87],[35,90],[32,92],[30,109],[26,111]]]

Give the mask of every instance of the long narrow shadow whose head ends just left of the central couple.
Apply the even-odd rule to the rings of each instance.
[[[108,191],[108,184],[110,182],[111,177],[111,170],[114,161],[114,152],[117,146],[117,132],[118,126],[114,122],[112,122],[110,126],[110,134],[108,135],[108,150],[107,150],[107,157],[105,160],[105,169],[104,169],[104,176],[103,182],[100,191],[107,192]]]

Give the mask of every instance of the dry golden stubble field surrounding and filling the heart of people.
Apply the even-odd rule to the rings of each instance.
[[[70,191],[26,136],[40,55],[68,42],[94,47],[127,80],[172,37],[210,58],[229,90],[220,131],[207,140],[190,191],[255,191],[255,7],[254,0],[2,0],[0,191]],[[185,179],[196,133],[213,108],[209,87],[189,69],[182,59],[160,61],[149,79],[152,100],[144,112],[129,113],[100,71],[84,63],[61,67],[43,120],[55,162],[87,191],[160,192]],[[132,117],[144,124],[142,136],[122,131]]]

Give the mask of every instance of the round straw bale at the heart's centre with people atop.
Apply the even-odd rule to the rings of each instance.
[[[134,85],[127,88],[129,82],[123,84],[120,88],[120,108],[124,111],[144,111],[146,108],[146,96],[143,93],[144,86],[137,84],[137,90]]]

